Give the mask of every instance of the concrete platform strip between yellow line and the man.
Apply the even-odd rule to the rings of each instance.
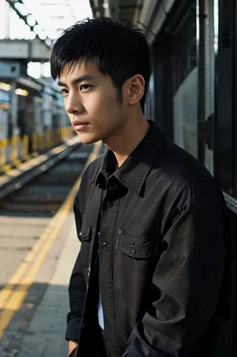
[[[65,357],[67,286],[79,251],[70,212],[28,295],[0,340],[1,357]]]

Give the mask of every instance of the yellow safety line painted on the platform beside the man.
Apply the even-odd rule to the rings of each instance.
[[[100,145],[100,142],[97,142],[94,145],[94,149],[89,155],[85,163],[85,167],[96,158]],[[73,185],[59,210],[49,221],[45,231],[33,244],[25,259],[8,280],[5,287],[0,291],[0,308],[2,309],[0,314],[0,338],[13,318],[15,312],[21,307],[30,285],[34,282],[41,265],[43,264],[53,242],[58,236],[58,233],[72,207],[74,197],[80,186],[80,181],[81,175]],[[19,285],[15,290],[13,290],[14,285],[17,284]]]

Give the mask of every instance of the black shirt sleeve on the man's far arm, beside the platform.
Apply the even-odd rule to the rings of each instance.
[[[81,229],[81,214],[79,211],[78,198],[74,200],[74,215],[77,236],[80,235]],[[70,311],[67,314],[67,328],[65,333],[66,340],[78,340],[79,329],[81,324],[82,311],[86,294],[86,282],[83,275],[80,252],[76,258],[68,287],[69,292],[69,307]]]

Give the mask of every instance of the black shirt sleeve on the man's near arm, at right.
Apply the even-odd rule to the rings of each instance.
[[[153,274],[160,291],[122,357],[187,357],[216,309],[226,248],[224,208],[198,198],[175,216]]]

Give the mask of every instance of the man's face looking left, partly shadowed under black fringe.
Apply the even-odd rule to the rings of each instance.
[[[126,118],[126,106],[120,104],[108,76],[94,64],[76,64],[64,70],[58,85],[64,95],[65,110],[84,144],[105,140],[120,129]]]

